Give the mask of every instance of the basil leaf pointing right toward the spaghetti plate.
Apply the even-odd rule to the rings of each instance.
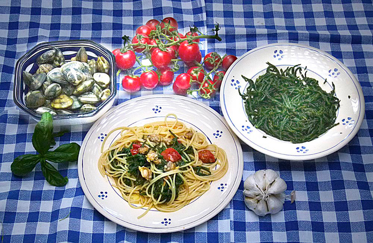
[[[78,143],[63,144],[54,151],[48,151],[45,158],[55,163],[74,162],[78,160],[79,150],[80,145]]]

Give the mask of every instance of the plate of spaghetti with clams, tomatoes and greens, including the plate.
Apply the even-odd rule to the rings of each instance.
[[[213,109],[151,95],[96,121],[78,160],[85,195],[103,216],[150,233],[187,230],[224,209],[242,180],[238,138]]]

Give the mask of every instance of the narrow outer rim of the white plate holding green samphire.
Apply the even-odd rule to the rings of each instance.
[[[360,111],[359,111],[360,114],[359,114],[359,117],[358,117],[358,122],[356,123],[354,129],[351,131],[351,133],[346,138],[344,138],[343,140],[341,140],[334,147],[332,147],[332,148],[330,148],[330,149],[328,149],[326,151],[319,152],[317,154],[311,154],[311,155],[305,154],[305,155],[296,155],[295,156],[295,155],[281,154],[281,153],[273,152],[273,151],[267,150],[265,148],[262,148],[261,146],[253,143],[251,140],[249,140],[243,134],[241,134],[241,132],[238,130],[238,128],[229,119],[229,115],[228,115],[228,112],[227,112],[227,109],[226,109],[226,106],[225,106],[225,103],[224,103],[224,96],[225,96],[224,92],[226,90],[225,89],[225,85],[228,82],[228,75],[225,75],[224,78],[223,78],[223,81],[222,81],[222,84],[221,84],[221,92],[220,92],[220,107],[221,107],[221,111],[223,113],[223,116],[224,116],[226,122],[229,124],[230,128],[232,129],[232,131],[244,143],[246,143],[247,145],[249,145],[250,147],[252,147],[253,149],[255,149],[255,150],[257,150],[257,151],[259,151],[261,153],[264,153],[266,155],[269,155],[269,156],[272,156],[272,157],[275,157],[275,158],[285,159],[285,160],[292,160],[292,161],[303,161],[303,160],[310,160],[310,159],[321,158],[321,157],[327,156],[327,155],[329,155],[331,153],[334,153],[334,152],[338,151],[339,149],[341,149],[342,147],[344,147],[346,144],[348,144],[355,137],[355,135],[358,133],[358,131],[359,131],[359,129],[360,129],[360,127],[361,127],[361,125],[362,125],[362,123],[364,121],[364,116],[365,116],[365,98],[364,98],[364,94],[363,94],[363,90],[362,90],[362,87],[360,85],[360,82],[355,77],[355,75],[351,72],[351,70],[345,64],[343,64],[340,60],[338,60],[334,56],[330,55],[329,53],[327,53],[327,52],[325,52],[323,50],[320,50],[318,48],[312,47],[312,46],[308,46],[308,45],[304,45],[304,44],[299,44],[299,43],[272,43],[272,44],[258,46],[256,48],[254,48],[254,49],[246,52],[242,56],[240,56],[229,67],[229,69],[226,71],[226,74],[229,74],[232,71],[234,65],[236,65],[238,62],[240,62],[247,55],[250,55],[252,52],[255,52],[257,50],[260,50],[260,49],[263,49],[263,48],[267,48],[267,47],[277,47],[277,46],[296,46],[296,47],[311,49],[313,51],[316,51],[316,52],[318,52],[318,53],[326,56],[327,58],[331,59],[332,61],[336,62],[338,65],[340,65],[347,72],[347,74],[351,77],[354,85],[357,88],[357,93],[358,93],[358,96],[359,96],[359,99],[360,99],[360,106],[361,106]]]

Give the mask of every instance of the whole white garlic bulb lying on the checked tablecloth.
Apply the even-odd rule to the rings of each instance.
[[[259,216],[276,214],[283,208],[286,183],[274,170],[258,170],[244,183],[246,206]]]

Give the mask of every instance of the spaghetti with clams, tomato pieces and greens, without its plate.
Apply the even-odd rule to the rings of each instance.
[[[174,116],[175,121],[168,121]],[[103,150],[107,137],[120,137]],[[114,179],[115,187],[131,208],[174,212],[210,188],[228,170],[225,151],[209,144],[206,136],[178,121],[111,130],[101,146],[98,169]]]

